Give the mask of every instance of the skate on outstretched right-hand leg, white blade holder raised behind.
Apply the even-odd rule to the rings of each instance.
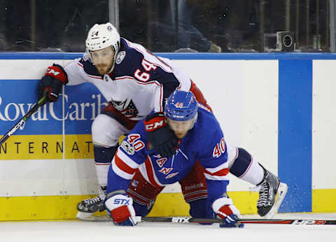
[[[286,183],[280,183],[278,177],[265,170],[264,179],[258,184],[259,199],[257,202],[258,214],[266,219],[272,218],[279,210],[287,192]]]

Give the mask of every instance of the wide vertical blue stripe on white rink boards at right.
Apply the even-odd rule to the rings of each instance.
[[[279,60],[278,174],[288,184],[281,213],[311,211],[311,94],[311,60]]]

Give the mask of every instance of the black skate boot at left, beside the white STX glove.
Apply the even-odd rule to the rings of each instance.
[[[83,213],[95,213],[104,211],[104,199],[106,197],[106,187],[99,188],[99,195],[92,199],[84,199],[77,205],[77,210]]]

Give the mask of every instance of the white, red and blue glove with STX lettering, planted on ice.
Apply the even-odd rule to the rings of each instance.
[[[135,218],[135,211],[133,208],[133,199],[132,197],[128,197],[127,194],[116,194],[106,199],[105,206],[115,225],[137,225],[137,218]]]

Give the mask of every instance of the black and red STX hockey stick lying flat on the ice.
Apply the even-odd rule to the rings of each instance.
[[[264,220],[242,219],[243,224],[273,224],[273,225],[336,225],[336,220]],[[174,223],[221,223],[219,218],[188,218],[188,217],[145,217],[141,222],[174,222]]]

